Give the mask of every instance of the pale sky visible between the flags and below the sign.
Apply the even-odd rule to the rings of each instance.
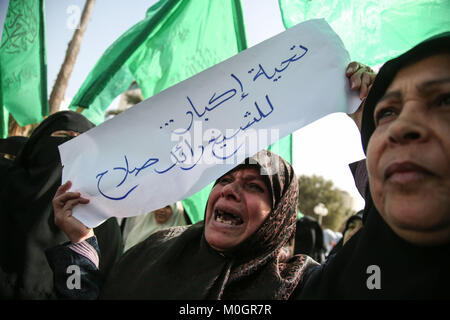
[[[103,52],[122,33],[144,18],[156,0],[96,0],[80,52],[69,80],[70,99],[80,88]],[[248,47],[284,31],[277,0],[241,0]],[[9,0],[0,0],[0,28]],[[85,0],[45,0],[47,87],[51,89],[81,16]],[[332,114],[294,132],[293,167],[299,175],[320,175],[347,191],[354,209],[364,207],[348,164],[364,158],[358,129],[345,114]]]

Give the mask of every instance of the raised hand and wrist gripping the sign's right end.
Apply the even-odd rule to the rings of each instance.
[[[349,78],[350,88],[353,91],[359,91],[359,98],[362,100],[358,110],[349,114],[349,117],[355,121],[359,131],[361,131],[364,102],[377,74],[369,66],[359,62],[350,62],[345,71],[345,75]]]

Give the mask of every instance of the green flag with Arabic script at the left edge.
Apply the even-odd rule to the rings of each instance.
[[[20,126],[48,115],[44,0],[11,0],[0,45],[2,115]],[[4,119],[2,119],[4,120]],[[4,134],[5,121],[1,121]]]

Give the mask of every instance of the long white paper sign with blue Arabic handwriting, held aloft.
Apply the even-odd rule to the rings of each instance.
[[[323,19],[242,51],[59,147],[89,227],[189,197],[293,131],[353,112],[349,55]],[[332,133],[330,133],[332,134]]]

